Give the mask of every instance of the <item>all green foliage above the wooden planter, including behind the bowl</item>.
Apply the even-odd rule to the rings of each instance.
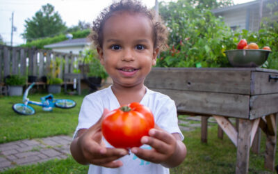
[[[211,3],[204,3],[208,1]],[[210,10],[204,8],[206,4],[215,6],[216,3],[213,0],[178,0],[177,3],[160,4],[161,16],[170,31],[170,49],[161,52],[156,66],[196,67],[201,64],[203,68],[231,67],[224,51],[236,49],[239,40],[245,38],[248,43],[256,42],[260,48],[269,46],[272,54],[263,68],[278,69],[277,22],[264,19],[257,32],[245,29],[232,31],[221,17],[215,17]],[[219,5],[224,4],[229,4],[229,1],[220,1]]]

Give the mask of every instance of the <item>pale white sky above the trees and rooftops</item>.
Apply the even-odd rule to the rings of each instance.
[[[148,8],[152,8],[155,0],[141,0]],[[159,1],[159,0],[158,0]],[[175,1],[175,0],[164,0]],[[234,0],[235,4],[254,0]],[[50,3],[54,6],[66,26],[77,25],[79,21],[90,22],[99,15],[101,10],[109,6],[113,0],[0,0],[0,34],[3,41],[10,45],[13,25],[17,28],[13,32],[13,46],[25,43],[22,33],[25,29],[25,20],[32,19],[42,6]]]

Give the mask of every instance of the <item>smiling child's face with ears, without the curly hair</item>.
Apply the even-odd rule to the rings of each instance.
[[[97,51],[113,85],[143,84],[158,54],[150,20],[138,13],[114,13],[104,24],[103,46]]]

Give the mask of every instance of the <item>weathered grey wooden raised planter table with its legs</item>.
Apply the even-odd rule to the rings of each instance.
[[[275,168],[277,79],[277,70],[262,68],[153,68],[145,84],[169,95],[179,113],[202,116],[203,142],[206,120],[213,116],[237,147],[236,173],[248,173],[258,127],[267,136],[265,168]],[[229,118],[237,118],[238,129]]]

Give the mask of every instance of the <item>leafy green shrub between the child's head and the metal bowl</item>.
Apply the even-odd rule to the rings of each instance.
[[[169,50],[161,52],[161,67],[227,67],[224,50],[233,45],[233,33],[210,10],[191,6],[187,1],[169,3],[161,11],[170,31]]]

